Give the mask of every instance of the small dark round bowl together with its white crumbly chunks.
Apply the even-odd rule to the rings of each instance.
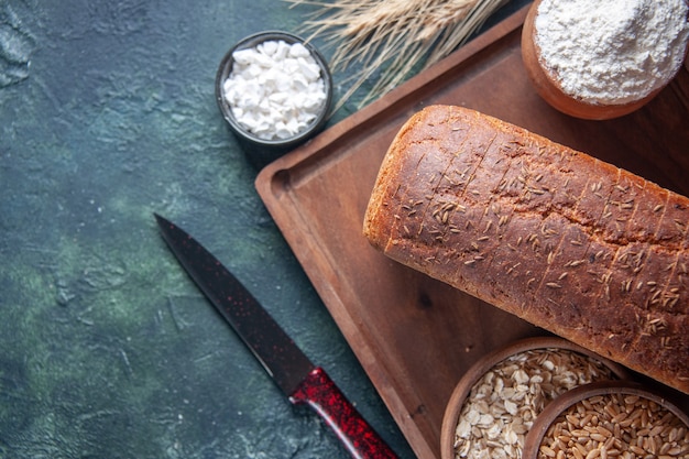
[[[287,32],[261,32],[241,40],[222,58],[216,100],[240,141],[287,150],[326,123],[332,77],[310,43]]]

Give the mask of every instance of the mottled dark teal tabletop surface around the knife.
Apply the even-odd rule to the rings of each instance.
[[[154,211],[233,270],[413,457],[214,99],[236,41],[299,33],[307,11],[0,0],[0,458],[348,457],[187,280]]]

